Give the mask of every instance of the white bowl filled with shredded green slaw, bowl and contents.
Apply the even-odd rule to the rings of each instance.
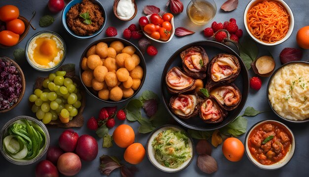
[[[193,139],[178,126],[164,125],[150,134],[146,151],[157,169],[167,173],[179,172],[193,160]]]

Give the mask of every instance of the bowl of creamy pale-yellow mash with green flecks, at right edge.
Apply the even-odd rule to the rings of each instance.
[[[294,123],[309,121],[309,63],[294,61],[282,65],[270,77],[268,100],[280,118]]]

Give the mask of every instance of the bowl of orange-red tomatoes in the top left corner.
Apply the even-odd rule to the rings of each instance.
[[[19,15],[19,9],[15,5],[0,7],[0,48],[8,48],[20,43],[28,34],[30,22]]]

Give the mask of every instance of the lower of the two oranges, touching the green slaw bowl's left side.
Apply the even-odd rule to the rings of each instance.
[[[145,153],[144,146],[136,142],[125,149],[123,158],[128,163],[135,165],[143,161]]]

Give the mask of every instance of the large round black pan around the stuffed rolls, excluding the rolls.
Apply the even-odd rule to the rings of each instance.
[[[177,117],[177,115],[175,115],[171,111],[169,107],[169,100],[172,95],[167,91],[167,88],[165,85],[165,76],[172,67],[182,66],[180,53],[184,51],[185,49],[192,47],[192,46],[196,46],[196,45],[202,46],[205,49],[210,61],[218,53],[229,53],[229,54],[235,55],[238,58],[240,66],[241,66],[240,74],[237,77],[237,79],[234,81],[234,84],[239,88],[241,95],[242,95],[240,104],[238,105],[236,109],[232,111],[228,111],[229,115],[222,122],[217,123],[217,124],[207,124],[204,121],[202,121],[202,119],[199,118],[198,116],[190,118],[190,119],[180,119]],[[206,79],[203,80],[204,84],[206,83],[205,81]],[[164,70],[163,70],[162,77],[161,77],[161,92],[162,92],[163,102],[164,102],[164,105],[167,111],[178,123],[180,123],[181,125],[187,128],[194,129],[194,130],[211,131],[211,130],[222,128],[226,126],[227,124],[229,124],[230,122],[232,122],[242,110],[243,106],[246,103],[247,96],[249,93],[248,72],[240,56],[230,47],[224,44],[221,44],[221,43],[214,42],[214,41],[197,41],[197,42],[187,44],[181,47],[168,59],[168,61],[166,62],[164,66]]]

